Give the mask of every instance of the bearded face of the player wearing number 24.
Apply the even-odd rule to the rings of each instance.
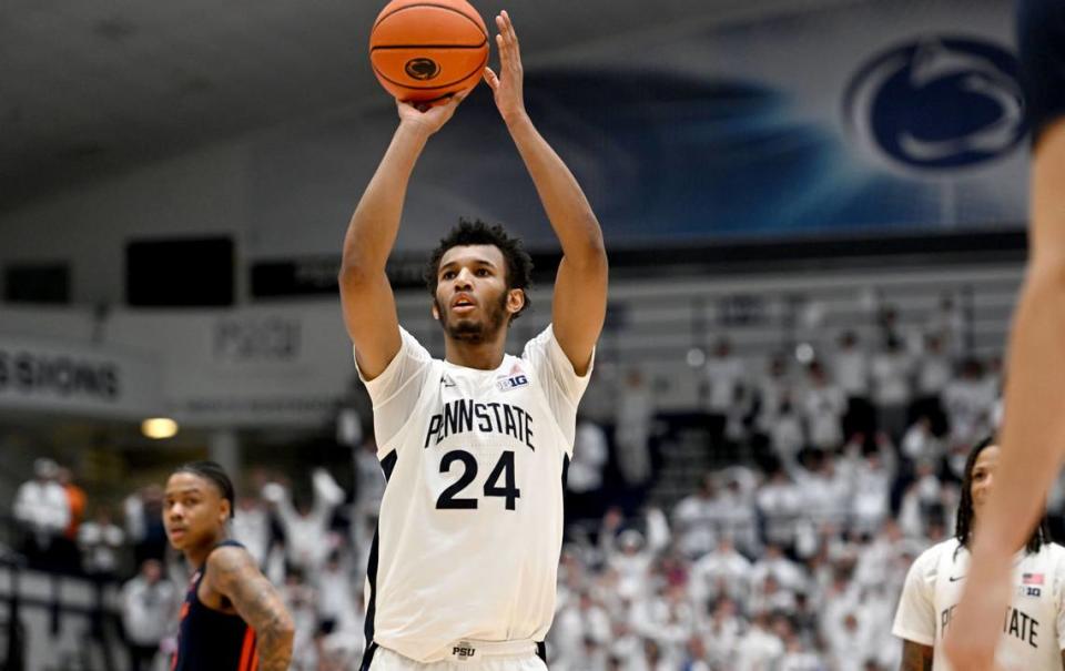
[[[495,245],[452,247],[440,257],[436,281],[433,312],[450,337],[483,342],[509,321],[516,298],[507,291],[506,258]]]

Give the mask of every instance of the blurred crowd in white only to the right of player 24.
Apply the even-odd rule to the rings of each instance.
[[[845,331],[764,360],[719,340],[701,369],[704,434],[710,455],[739,458],[673,505],[628,488],[620,508],[570,527],[551,668],[897,669],[890,632],[906,570],[953,532],[965,457],[1001,414],[998,362],[966,355],[953,304],[941,312],[903,331],[888,307],[865,343]],[[668,460],[655,408],[629,400],[639,377],[612,392],[615,460],[633,449]],[[594,424],[582,417],[577,434],[585,469],[601,464],[580,456],[599,440]],[[1059,488],[1052,527],[1063,499]]]

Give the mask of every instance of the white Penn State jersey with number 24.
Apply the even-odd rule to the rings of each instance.
[[[387,485],[367,645],[422,662],[462,640],[542,641],[555,612],[578,377],[551,327],[495,370],[403,345],[366,383]]]

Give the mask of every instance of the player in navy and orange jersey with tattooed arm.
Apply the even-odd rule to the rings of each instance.
[[[181,609],[172,671],[286,671],[293,621],[242,545],[229,540],[233,484],[213,461],[166,481],[163,526],[195,568]]]

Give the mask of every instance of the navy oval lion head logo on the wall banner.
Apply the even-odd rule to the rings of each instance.
[[[843,108],[863,142],[922,171],[993,161],[1027,132],[1016,59],[968,38],[922,38],[876,54],[848,84]]]

